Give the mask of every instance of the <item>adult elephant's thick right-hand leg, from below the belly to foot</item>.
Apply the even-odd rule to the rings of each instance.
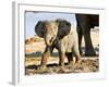
[[[96,55],[96,52],[94,50],[92,38],[90,38],[90,28],[85,27],[83,30],[84,40],[85,40],[85,55],[86,57],[93,57]]]

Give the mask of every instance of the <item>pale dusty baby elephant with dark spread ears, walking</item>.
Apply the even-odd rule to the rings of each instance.
[[[44,38],[46,44],[41,60],[41,70],[46,70],[47,59],[55,48],[59,51],[59,64],[62,71],[65,71],[65,57],[71,66],[75,62],[81,61],[76,29],[74,26],[71,26],[70,22],[60,18],[56,21],[39,21],[35,26],[35,33]]]

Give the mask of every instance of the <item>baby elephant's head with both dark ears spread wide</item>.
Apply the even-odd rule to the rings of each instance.
[[[56,39],[62,39],[70,33],[71,24],[65,20],[39,21],[35,26],[35,33],[45,39],[47,46],[51,46]]]

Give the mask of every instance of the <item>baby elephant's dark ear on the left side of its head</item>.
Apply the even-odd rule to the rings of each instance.
[[[35,26],[35,33],[37,36],[44,38],[45,29],[44,29],[44,22],[39,21]]]

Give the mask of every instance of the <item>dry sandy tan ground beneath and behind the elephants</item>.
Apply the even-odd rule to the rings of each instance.
[[[36,40],[25,45],[25,74],[53,74],[53,73],[63,73],[60,70],[58,52],[55,49],[53,54],[48,59],[48,69],[45,72],[39,72],[41,54],[45,49],[45,42],[43,39],[33,37]],[[37,40],[38,39],[38,40]],[[95,29],[92,32],[93,45],[96,50],[96,53],[99,54],[99,30]],[[32,39],[33,40],[33,39]],[[84,40],[82,47],[84,48]],[[84,49],[83,49],[84,51]],[[65,63],[68,60],[65,59]],[[72,69],[65,64],[68,72],[64,73],[89,73],[99,71],[99,58],[98,57],[82,57],[82,62],[74,64]]]

